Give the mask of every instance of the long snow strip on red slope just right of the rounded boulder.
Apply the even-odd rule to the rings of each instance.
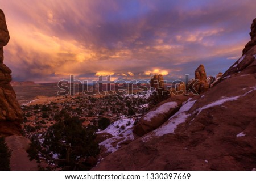
[[[189,99],[190,100],[190,99]],[[177,125],[185,122],[186,118],[189,114],[185,112],[189,111],[189,109],[195,104],[196,100],[187,101],[175,115],[171,116],[166,124],[163,124],[158,129],[154,131],[156,136],[163,136],[164,134],[174,133],[174,130],[177,128]]]

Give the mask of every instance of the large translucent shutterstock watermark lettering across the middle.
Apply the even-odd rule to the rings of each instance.
[[[189,95],[193,93],[198,95],[195,85],[197,80],[193,79],[193,82],[189,82],[189,75],[184,75],[185,82],[181,80],[175,80],[172,83],[167,83],[166,80],[158,81],[154,75],[149,80],[133,79],[131,81],[125,81],[119,79],[113,81],[111,75],[106,77],[98,77],[97,80],[84,80],[80,81],[75,79],[74,75],[70,75],[69,80],[61,80],[57,83],[59,90],[57,95],[127,95],[127,94],[146,94],[151,91],[152,95]],[[160,91],[160,92],[159,92]]]

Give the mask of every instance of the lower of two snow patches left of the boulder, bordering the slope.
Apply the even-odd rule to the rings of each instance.
[[[123,133],[119,134],[118,136],[106,139],[105,141],[99,143],[100,146],[104,146],[107,150],[107,153],[114,153],[114,151],[117,151],[121,144],[125,141],[133,141],[134,135],[133,135],[133,129],[129,128],[125,130]],[[115,144],[118,142],[117,144]]]

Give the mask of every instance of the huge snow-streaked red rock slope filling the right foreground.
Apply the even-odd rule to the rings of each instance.
[[[255,26],[256,20],[253,39]],[[159,128],[106,156],[93,170],[253,170],[255,55],[256,45],[247,44],[210,90],[184,102]],[[196,77],[206,79],[203,66],[198,70]]]

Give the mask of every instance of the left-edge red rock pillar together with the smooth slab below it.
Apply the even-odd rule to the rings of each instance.
[[[0,137],[5,136],[6,144],[11,150],[11,170],[37,170],[38,164],[28,158],[30,140],[20,133],[22,110],[10,84],[11,70],[3,64],[3,46],[9,39],[5,15],[0,9]]]

